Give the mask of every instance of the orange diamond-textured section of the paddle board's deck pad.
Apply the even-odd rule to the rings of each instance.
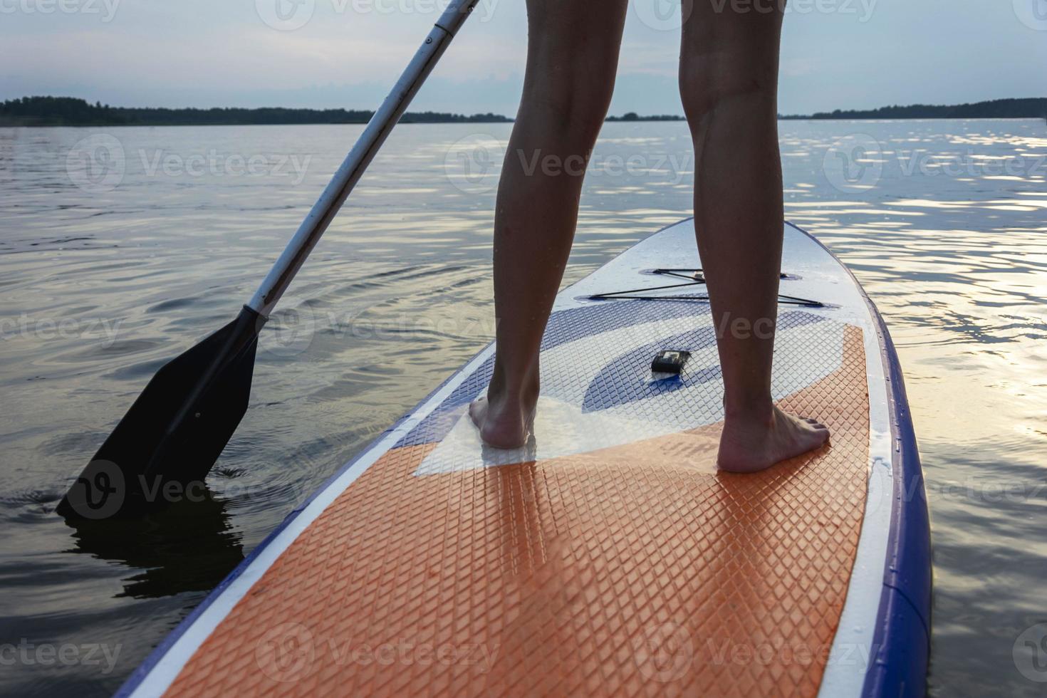
[[[782,401],[831,445],[761,473],[716,472],[718,424],[426,476],[433,444],[389,450],[169,693],[816,695],[866,497],[862,331],[843,336]]]

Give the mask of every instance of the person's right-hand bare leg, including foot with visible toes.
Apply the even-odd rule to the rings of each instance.
[[[782,13],[777,2],[740,9],[695,0],[684,24],[680,84],[697,162],[698,252],[723,370],[717,463],[755,472],[818,448],[829,432],[786,414],[771,399],[783,228],[777,122]]]

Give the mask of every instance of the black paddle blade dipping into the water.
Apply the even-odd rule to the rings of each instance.
[[[250,397],[265,318],[236,320],[165,364],[59,503],[66,518],[142,514],[204,492]]]

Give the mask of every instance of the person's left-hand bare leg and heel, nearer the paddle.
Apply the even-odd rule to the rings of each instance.
[[[614,91],[627,0],[528,0],[527,75],[494,219],[494,376],[469,407],[481,436],[521,446],[538,350],[571,252],[589,151]]]

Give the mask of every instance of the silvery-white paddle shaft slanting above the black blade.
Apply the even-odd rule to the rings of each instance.
[[[367,128],[346,157],[346,161],[338,167],[338,172],[324,189],[324,194],[313,205],[309,216],[302,222],[284,253],[276,260],[276,264],[262,282],[258,292],[248,301],[248,308],[263,317],[268,317],[272,312],[476,2],[477,0],[451,0],[421,48],[415,53],[415,58],[400,75],[393,91],[371,117]]]

